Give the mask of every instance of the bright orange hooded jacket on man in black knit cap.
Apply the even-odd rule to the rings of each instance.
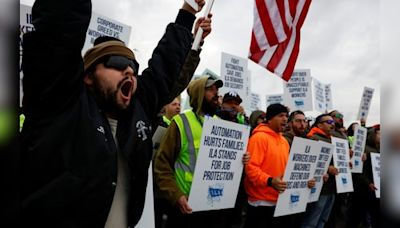
[[[278,191],[267,186],[269,177],[282,177],[289,157],[286,139],[266,124],[260,124],[250,137],[247,150],[251,159],[246,166],[244,186],[249,201],[276,202]]]

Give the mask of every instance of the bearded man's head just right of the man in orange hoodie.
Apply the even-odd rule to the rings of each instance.
[[[306,137],[307,120],[301,110],[293,111],[289,115],[288,130],[283,134],[289,145],[292,146],[294,136]]]

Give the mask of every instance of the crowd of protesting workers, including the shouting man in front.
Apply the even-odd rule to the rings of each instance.
[[[205,4],[195,2],[199,10]],[[156,228],[379,227],[370,153],[380,152],[380,125],[362,119],[346,130],[338,110],[310,124],[304,112],[284,104],[248,115],[236,92],[219,94],[220,79],[191,81],[200,61],[200,50],[190,50],[194,33],[203,29],[203,44],[211,32],[211,15],[195,23],[196,13],[183,4],[138,75],[134,53],[115,38],[98,38],[81,57],[91,1],[35,2],[35,31],[24,36],[22,59],[22,224],[134,227],[152,161]],[[182,111],[185,88],[190,109]],[[249,125],[251,132],[234,208],[192,212],[188,196],[196,190],[192,179],[206,116]],[[352,175],[354,192],[337,194],[338,170],[331,162],[317,202],[303,213],[274,217],[287,188],[282,177],[293,138],[330,143],[339,137],[351,145],[356,124],[368,135],[363,172]],[[158,127],[165,132],[154,149]],[[307,187],[314,185],[310,178]]]

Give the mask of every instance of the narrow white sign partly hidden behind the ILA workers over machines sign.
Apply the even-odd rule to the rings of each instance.
[[[314,178],[315,186],[311,188],[308,202],[316,202],[321,194],[322,185],[324,184],[323,175],[328,172],[329,164],[332,159],[333,145],[323,141],[318,141],[321,145],[321,150],[318,154],[318,161],[315,167]]]

